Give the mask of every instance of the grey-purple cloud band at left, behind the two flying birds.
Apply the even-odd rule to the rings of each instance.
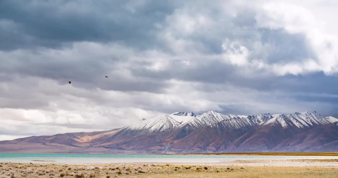
[[[81,88],[117,91],[149,91],[160,92],[168,84],[164,81],[143,80],[138,76],[126,78],[121,71],[121,62],[126,59],[112,57],[109,60],[74,56],[64,58],[61,56],[32,56],[20,55],[16,59],[0,59],[3,72],[0,81],[9,82],[17,77],[36,76],[56,80],[60,85],[72,85]],[[109,76],[105,78],[104,76]],[[29,83],[27,83],[29,84]]]

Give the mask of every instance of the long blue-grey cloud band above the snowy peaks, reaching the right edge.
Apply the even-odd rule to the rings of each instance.
[[[168,70],[150,71],[146,68],[135,68],[131,71],[134,76],[143,76],[151,79],[195,81],[205,84],[228,84],[233,86],[251,88],[259,91],[283,91],[337,94],[338,78],[330,77],[323,72],[307,75],[266,75],[264,69],[250,69],[251,75],[246,75],[248,68],[225,64],[219,60],[197,59],[187,66],[175,61],[169,63]],[[256,70],[256,71],[255,71]],[[210,92],[214,92],[211,90]]]

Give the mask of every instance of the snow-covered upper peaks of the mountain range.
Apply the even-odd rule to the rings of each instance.
[[[271,115],[268,113],[253,116],[224,115],[214,111],[198,114],[196,116],[192,112],[177,112],[173,114],[164,114],[150,119],[141,119],[138,122],[123,127],[120,134],[129,137],[137,135],[138,133],[159,134],[175,129],[183,129],[184,131],[189,129],[190,131],[193,131],[209,126],[216,127],[219,132],[222,132],[222,130],[234,130],[270,123],[281,125],[283,128],[313,128],[315,126],[334,122],[338,122],[338,119],[332,116],[325,118],[316,111],[295,112],[289,115]],[[181,131],[179,131],[179,133],[181,133]]]

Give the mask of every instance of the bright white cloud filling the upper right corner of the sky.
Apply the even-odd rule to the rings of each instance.
[[[323,7],[324,3],[309,4],[269,2],[262,5],[262,9],[256,16],[258,27],[283,28],[289,33],[305,34],[308,48],[311,48],[317,56],[316,61],[305,59],[305,62],[281,66],[281,68],[294,69],[283,72],[283,75],[285,73],[304,74],[308,71],[323,71],[327,75],[338,72],[338,26],[332,20],[332,14],[335,13],[325,12],[332,8]]]

